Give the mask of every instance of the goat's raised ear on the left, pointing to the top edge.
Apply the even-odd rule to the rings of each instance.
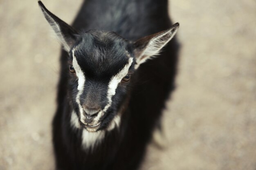
[[[71,47],[76,42],[78,33],[66,22],[56,17],[53,13],[46,9],[45,5],[40,0],[38,1],[38,4],[43,11],[46,20],[49,22],[50,26],[52,26],[52,29],[56,33],[59,42],[61,42],[65,51],[69,52]]]

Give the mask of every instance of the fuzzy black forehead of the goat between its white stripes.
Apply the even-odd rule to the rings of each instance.
[[[104,41],[104,42],[103,42]],[[110,78],[128,64],[125,46],[115,40],[82,40],[74,51],[76,60],[87,76]]]

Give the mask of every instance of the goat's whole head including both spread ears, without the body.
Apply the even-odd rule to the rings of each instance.
[[[90,132],[112,129],[113,122],[118,124],[115,120],[128,98],[130,84],[134,81],[132,74],[140,64],[159,54],[173,38],[179,24],[133,42],[113,32],[77,33],[48,11],[42,2],[38,3],[70,55],[69,96],[73,118],[78,118],[78,124]]]

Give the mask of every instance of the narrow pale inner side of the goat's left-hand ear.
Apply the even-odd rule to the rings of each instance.
[[[65,51],[69,52],[70,51],[70,46],[67,44],[67,42],[64,39],[64,36],[61,33],[60,26],[54,21],[54,19],[48,15],[48,13],[41,7],[43,14],[45,15],[45,18],[48,20],[49,24],[52,26],[52,29],[57,35],[58,41],[64,46]]]

